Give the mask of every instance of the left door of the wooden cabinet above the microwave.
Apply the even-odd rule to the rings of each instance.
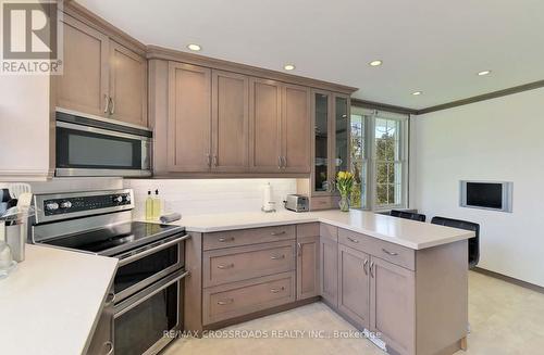
[[[107,117],[108,37],[66,14],[63,36],[63,74],[55,76],[57,105]]]

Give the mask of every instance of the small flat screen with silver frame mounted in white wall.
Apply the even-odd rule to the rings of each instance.
[[[511,182],[461,181],[462,207],[511,212]]]

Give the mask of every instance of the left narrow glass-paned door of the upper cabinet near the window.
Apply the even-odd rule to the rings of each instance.
[[[312,90],[312,147],[313,159],[311,174],[311,194],[329,195],[331,193],[330,156],[331,156],[331,93],[327,91]]]

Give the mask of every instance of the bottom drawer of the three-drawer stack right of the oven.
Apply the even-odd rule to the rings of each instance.
[[[295,301],[294,271],[203,290],[202,322],[239,317]]]

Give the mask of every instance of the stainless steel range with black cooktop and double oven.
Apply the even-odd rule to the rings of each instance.
[[[183,227],[133,221],[129,189],[37,194],[34,204],[30,242],[119,258],[94,353],[156,354],[172,340],[165,332],[183,329]]]

